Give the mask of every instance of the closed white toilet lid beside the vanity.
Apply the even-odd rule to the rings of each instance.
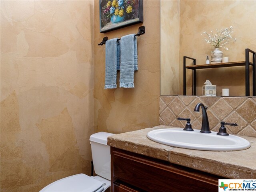
[[[92,177],[77,174],[55,181],[40,192],[98,192],[102,185],[102,182]]]

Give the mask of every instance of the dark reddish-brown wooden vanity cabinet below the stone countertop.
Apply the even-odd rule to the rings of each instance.
[[[216,192],[220,176],[111,147],[112,192]]]

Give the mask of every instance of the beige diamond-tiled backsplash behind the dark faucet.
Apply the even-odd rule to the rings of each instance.
[[[201,129],[202,110],[194,113],[197,103],[208,107],[210,128],[218,131],[220,122],[234,122],[238,126],[226,126],[227,132],[256,137],[256,98],[246,97],[207,97],[207,96],[160,96],[159,123],[184,127],[186,122],[178,117],[190,118],[192,128]]]

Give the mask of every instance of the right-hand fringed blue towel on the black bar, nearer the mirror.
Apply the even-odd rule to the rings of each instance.
[[[120,87],[134,88],[134,71],[138,70],[137,37],[130,34],[120,41]]]

